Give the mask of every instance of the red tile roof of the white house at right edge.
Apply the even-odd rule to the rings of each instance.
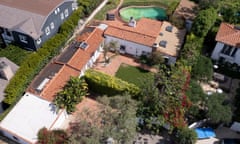
[[[228,23],[221,23],[217,32],[216,41],[234,47],[240,47],[240,29]]]

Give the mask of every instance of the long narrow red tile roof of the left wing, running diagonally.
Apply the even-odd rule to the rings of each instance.
[[[82,68],[88,63],[92,54],[97,50],[103,41],[103,31],[95,28],[94,31],[85,39],[88,43],[88,48],[83,50],[79,48],[72,58],[63,64],[60,71],[50,80],[45,86],[40,96],[48,101],[53,101],[56,94],[62,90],[65,84],[69,81],[71,76],[79,76]],[[82,35],[86,37],[86,35]],[[81,37],[81,36],[80,36]],[[81,39],[78,37],[77,39]],[[82,39],[81,39],[82,40]]]

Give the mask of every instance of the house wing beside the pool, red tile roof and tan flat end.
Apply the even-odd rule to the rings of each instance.
[[[106,21],[105,42],[115,41],[119,52],[132,56],[149,55],[160,51],[168,64],[176,62],[183,43],[185,30],[178,30],[170,23],[142,18],[129,23]]]

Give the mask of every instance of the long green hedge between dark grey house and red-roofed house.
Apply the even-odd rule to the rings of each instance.
[[[29,83],[36,74],[52,59],[59,54],[65,42],[73,34],[74,28],[78,25],[79,17],[82,17],[82,7],[79,7],[61,25],[59,33],[46,41],[37,52],[30,54],[21,64],[15,76],[10,80],[5,89],[4,103],[14,104],[23,95]]]

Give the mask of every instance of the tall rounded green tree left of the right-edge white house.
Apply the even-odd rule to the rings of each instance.
[[[199,12],[192,26],[192,32],[198,37],[205,37],[217,19],[217,11],[208,8]]]

